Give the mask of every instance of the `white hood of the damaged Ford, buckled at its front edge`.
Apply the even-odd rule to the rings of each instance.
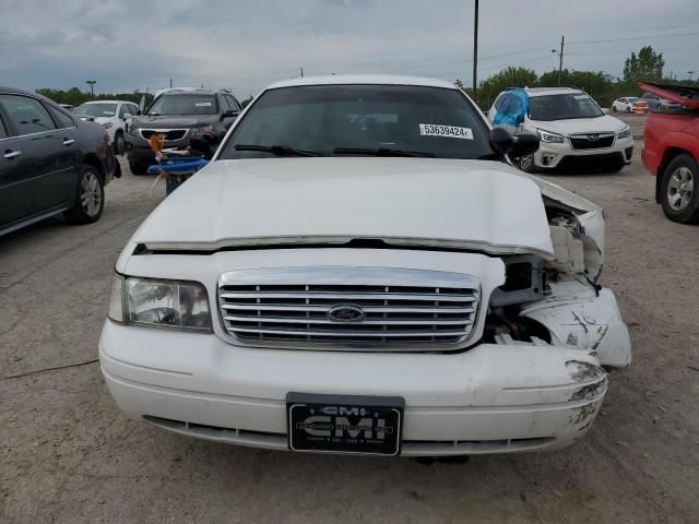
[[[358,239],[553,257],[533,180],[502,163],[433,158],[216,160],[169,195],[132,242],[208,251]]]

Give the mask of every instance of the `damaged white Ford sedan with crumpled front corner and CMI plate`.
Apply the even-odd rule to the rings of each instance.
[[[455,86],[276,83],[116,263],[99,341],[129,416],[271,450],[554,450],[630,361],[604,215],[508,165]]]

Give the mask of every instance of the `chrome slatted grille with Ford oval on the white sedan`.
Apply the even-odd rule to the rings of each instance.
[[[282,267],[226,273],[221,318],[238,342],[266,347],[463,347],[478,310],[471,275],[386,267]],[[339,321],[337,308],[362,311]]]

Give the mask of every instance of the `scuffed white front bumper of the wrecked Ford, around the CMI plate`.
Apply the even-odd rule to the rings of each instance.
[[[107,321],[99,359],[132,418],[271,450],[287,450],[292,391],[402,396],[402,454],[436,456],[565,448],[587,433],[607,390],[594,354],[526,343],[459,354],[261,349]]]

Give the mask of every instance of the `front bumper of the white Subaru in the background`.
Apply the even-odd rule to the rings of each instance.
[[[534,164],[540,169],[555,169],[558,167],[591,166],[623,162],[631,163],[633,154],[633,139],[615,140],[612,147],[601,150],[573,150],[568,140],[562,144],[542,142],[534,153]]]

